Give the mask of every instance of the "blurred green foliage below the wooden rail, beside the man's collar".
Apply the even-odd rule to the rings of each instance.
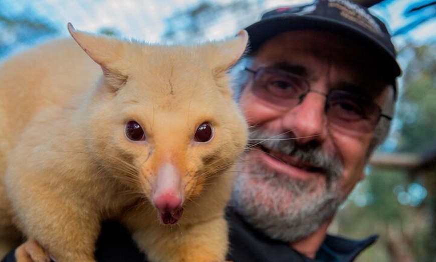
[[[418,206],[397,200],[398,188],[407,188],[410,182],[403,170],[373,168],[337,213],[332,226],[337,229],[333,233],[353,238],[380,235],[359,256],[359,262],[403,261],[396,260],[398,249],[415,261],[433,261],[428,246],[432,242],[428,240],[434,237],[426,208],[428,198]]]

